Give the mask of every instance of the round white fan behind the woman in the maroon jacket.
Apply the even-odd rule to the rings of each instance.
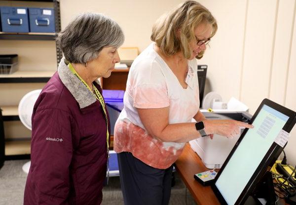
[[[18,113],[19,113],[20,120],[30,130],[32,130],[31,117],[33,114],[33,108],[40,92],[41,92],[41,89],[28,92],[21,99],[20,104],[18,106]],[[31,161],[24,164],[23,171],[26,173],[29,173],[30,165],[31,165]]]

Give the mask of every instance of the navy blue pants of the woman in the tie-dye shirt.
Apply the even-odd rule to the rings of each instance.
[[[117,154],[124,205],[168,205],[173,165],[151,167],[130,152]]]

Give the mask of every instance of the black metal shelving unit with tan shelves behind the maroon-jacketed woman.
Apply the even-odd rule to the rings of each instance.
[[[15,0],[10,0],[10,1],[15,1]],[[59,33],[61,31],[60,0],[20,0],[20,1],[52,2],[53,8],[55,10],[55,32]],[[0,40],[54,41],[55,33],[0,32]],[[59,64],[62,58],[62,51],[57,45],[56,45],[56,56],[57,56],[56,58],[57,64]],[[11,75],[0,75],[0,83],[48,82],[48,80],[53,74],[54,74],[54,71],[51,71],[51,72],[17,71]],[[3,121],[19,121],[19,116],[17,112],[17,106],[9,106],[6,108],[1,107],[1,109],[3,110],[3,112],[0,111],[0,168],[4,160],[30,159],[30,141],[31,141],[28,139],[28,140],[16,140],[16,141],[6,140],[4,142],[5,136],[4,136],[4,129],[3,129]],[[2,116],[2,113],[3,113],[3,116]]]

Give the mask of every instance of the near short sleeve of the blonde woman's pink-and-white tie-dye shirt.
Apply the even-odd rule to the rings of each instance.
[[[147,58],[138,62],[131,73],[131,96],[136,108],[164,108],[170,105],[163,68]]]

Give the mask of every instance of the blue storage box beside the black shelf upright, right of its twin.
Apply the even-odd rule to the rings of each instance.
[[[53,8],[29,8],[29,20],[30,32],[55,32],[55,18]]]

